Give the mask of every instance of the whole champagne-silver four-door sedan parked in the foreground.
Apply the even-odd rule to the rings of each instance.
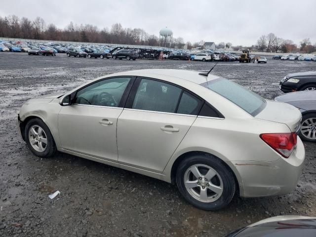
[[[26,102],[18,127],[39,157],[56,150],[178,186],[205,210],[235,193],[291,192],[305,150],[301,113],[215,75],[151,69],[94,79]]]

